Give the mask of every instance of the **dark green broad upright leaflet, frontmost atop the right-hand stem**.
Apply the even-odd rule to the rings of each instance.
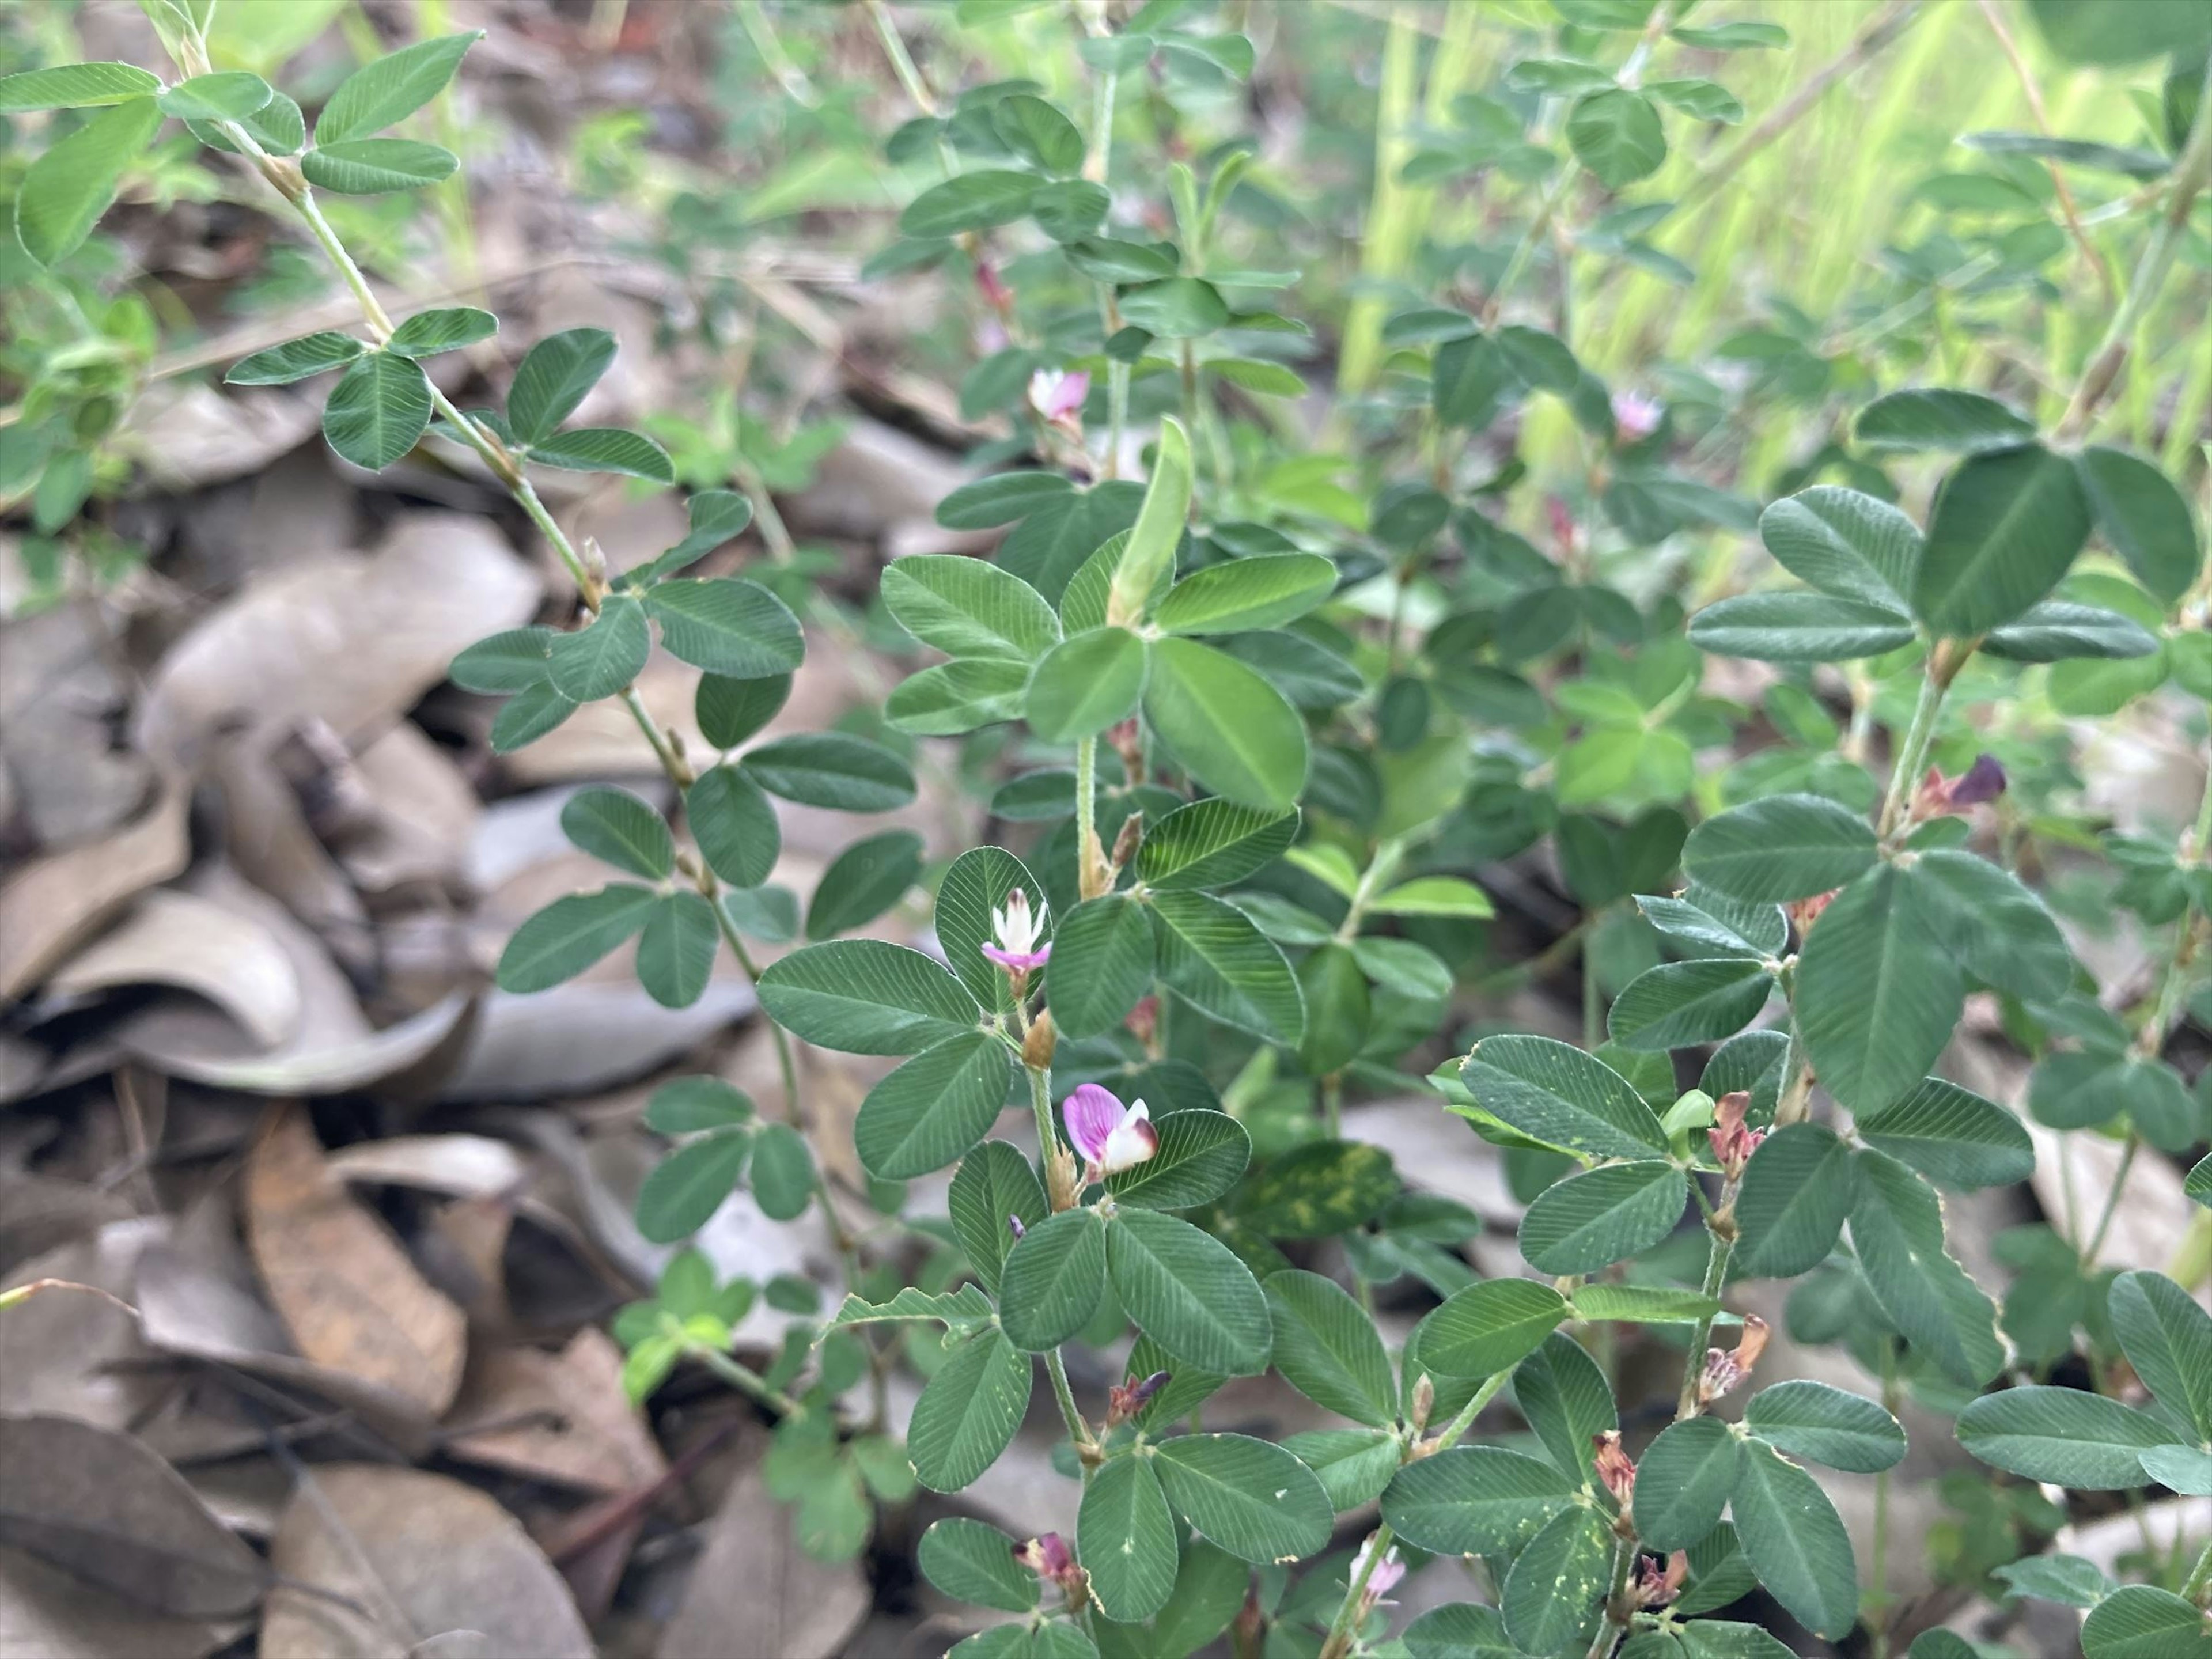
[[[1971,639],[2059,584],[2088,540],[2088,495],[2042,447],[1971,456],[1944,480],[1913,582],[1913,615]]]

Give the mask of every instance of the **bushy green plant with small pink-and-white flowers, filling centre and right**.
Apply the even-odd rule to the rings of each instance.
[[[2203,1279],[2212,1228],[2183,1241],[2177,1276],[2104,1267],[2135,1159],[2212,1139],[2168,1060],[2203,989],[2212,792],[2179,836],[2101,843],[2090,907],[2172,933],[2143,998],[2101,995],[2015,874],[2095,845],[2062,801],[2057,717],[2108,717],[2168,681],[2212,699],[2203,551],[2174,482],[2201,487],[2194,369],[2177,392],[2192,418],[2159,462],[2101,442],[2137,427],[2154,385],[2148,321],[2172,303],[2212,170],[2201,9],[2035,0],[2064,60],[2170,60],[2139,111],[2152,148],[1980,133],[1989,166],[1938,175],[1922,204],[1978,215],[1971,230],[1896,246],[1865,294],[1829,294],[1829,316],[1770,296],[1703,365],[1655,363],[1641,389],[1601,378],[1615,345],[1577,321],[1626,314],[1630,281],[1699,281],[1655,241],[1670,201],[1635,188],[1703,128],[1747,119],[1719,77],[1787,31],[1650,0],[1453,20],[1425,122],[1378,144],[1374,195],[1398,230],[1345,307],[1343,396],[1307,425],[1274,403],[1312,396],[1310,327],[1274,310],[1296,276],[1254,263],[1294,241],[1263,210],[1287,186],[1256,144],[1217,131],[1250,38],[1172,0],[1119,18],[1084,0],[1073,20],[1053,9],[1053,29],[1079,31],[1060,64],[1068,86],[1079,64],[1079,97],[987,82],[947,100],[865,0],[918,111],[885,157],[931,175],[874,268],[971,279],[971,321],[1002,345],[964,372],[960,414],[989,422],[987,458],[1037,462],[938,507],[947,529],[1004,526],[993,557],[909,555],[880,584],[878,633],[936,657],[889,690],[883,721],[960,739],[991,812],[1035,825],[1026,854],[971,847],[931,872],[942,960],[845,938],[922,878],[909,832],[849,847],[803,918],[768,885],[770,796],[880,812],[916,781],[898,752],[843,732],[748,748],[801,666],[779,593],[805,606],[803,584],[790,568],[774,588],[686,575],[768,511],[772,469],[810,456],[734,400],[655,422],[681,469],[644,434],[564,429],[613,356],[595,330],[538,341],[504,409],[458,409],[420,358],[489,338],[495,319],[394,323],[321,212],[319,190],[453,173],[447,150],[383,133],[471,38],[363,66],[310,142],[268,82],[210,69],[208,0],[146,9],[177,84],[124,64],[0,80],[4,108],[97,111],[24,173],[20,248],[66,261],[133,150],[186,119],[276,190],[363,312],[358,332],[259,352],[230,378],[341,369],[325,409],[341,456],[389,467],[436,425],[564,560],[577,626],[484,639],[453,679],[509,699],[502,750],[624,701],[681,792],[684,834],[641,796],[580,792],[562,827],[624,880],[529,918],[498,980],[544,989],[635,940],[661,1002],[697,1000],[723,947],[759,984],[785,1113],[717,1079],[666,1084],[646,1121],[675,1148],[639,1228],[679,1243],[741,1183],[779,1221],[821,1206],[847,1296],[812,1323],[810,1283],[717,1283],[681,1252],[615,1329],[633,1394],[690,1360],[776,1418],[768,1475],[805,1548],[858,1551],[874,1506],[916,1482],[973,1484],[1020,1429],[1040,1363],[1082,1480],[1075,1540],[945,1520],[920,1544],[947,1595],[1020,1615],[960,1644],[973,1659],[1181,1659],[1232,1626],[1239,1652],[1391,1652],[1385,1597],[1411,1555],[1469,1557],[1491,1586],[1489,1606],[1407,1628],[1413,1659],[1787,1652],[1710,1617],[1752,1586],[1807,1632],[1843,1641],[1865,1624],[1887,1652],[1907,1394],[2028,1482],[2212,1493],[2212,1316],[2183,1287]],[[962,7],[980,31],[1029,29],[1035,11]],[[1869,18],[1672,212],[1723,199],[1913,11]],[[745,7],[743,27],[776,82],[812,97],[765,9]],[[1416,104],[1405,29],[1387,44],[1398,124]],[[1128,159],[1124,133],[1152,153]],[[2084,210],[2068,168],[2139,188]],[[1166,192],[1146,217],[1148,179]],[[1451,259],[1431,237],[1431,292],[1407,270],[1402,192],[1433,190],[1442,212],[1464,179],[1500,223]],[[2068,283],[2095,290],[2095,330],[2075,327]],[[2039,374],[1991,345],[2024,314],[2059,336]],[[1913,385],[1876,394],[1900,378]],[[2022,385],[2035,414],[1997,396]],[[1307,440],[1321,429],[1336,451]],[[1144,482],[1121,476],[1139,431]],[[531,465],[655,484],[681,471],[692,533],[611,577],[546,511]],[[1787,580],[1765,557],[1736,568],[1743,535]],[[639,699],[655,641],[701,670],[712,757]],[[1772,666],[1756,708],[1714,659]],[[1708,763],[1754,721],[1772,743]],[[1537,958],[1491,962],[1498,905],[1475,878],[1535,845],[1573,920]],[[1458,991],[1571,960],[1579,1046],[1458,1024]],[[2024,1181],[2037,1144],[2011,1106],[1933,1075],[1969,993],[1995,998],[2033,1060],[2024,1108],[2051,1155],[2068,1157],[2066,1135],[2124,1148],[2090,1208],[2000,1239],[2015,1270],[2002,1303],[1955,1259],[1940,1192]],[[823,1177],[794,1040],[900,1060],[854,1124],[863,1194]],[[1683,1051],[1701,1060],[1688,1091]],[[1458,1245],[1480,1219],[1347,1137],[1347,1093],[1407,1086],[1500,1148],[1535,1276],[1478,1276]],[[993,1139],[1009,1102],[1037,1157]],[[947,1168],[947,1214],[907,1214],[905,1183]],[[2188,1192],[2212,1201],[2212,1164]],[[1301,1265],[1338,1261],[1338,1276]],[[1376,1296],[1407,1279],[1433,1305],[1394,1354]],[[1763,1279],[1792,1281],[1790,1336],[1851,1352],[1878,1398],[1759,1385],[1770,1329],[1732,1301]],[[757,1296],[801,1316],[765,1369],[730,1352]],[[1635,1455],[1624,1433],[1641,1440],[1646,1402],[1617,1398],[1624,1334],[1683,1349],[1666,1422]],[[1062,1349],[1121,1338],[1126,1380],[1102,1409]],[[896,1365],[927,1378],[902,1440],[885,1409]],[[1203,1429],[1214,1391],[1267,1369],[1345,1427],[1285,1444]],[[2130,1374],[2141,1405],[2117,1398]],[[1467,1442],[1506,1389],[1533,1444]],[[1723,1400],[1741,1416],[1714,1416]],[[1876,1475],[1871,1571],[1805,1464]],[[1332,1555],[1338,1517],[1367,1504],[1374,1531]],[[2119,1586],[2073,1557],[2011,1559],[2051,1531],[2044,1498],[1966,1491],[1958,1509],[1944,1571],[2084,1608],[2090,1659],[2205,1641],[2212,1546]],[[1944,1655],[1947,1632],[1913,1650]]]

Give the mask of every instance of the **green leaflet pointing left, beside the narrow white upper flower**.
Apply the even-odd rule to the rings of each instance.
[[[849,1055],[911,1055],[982,1020],[940,962],[874,938],[776,958],[761,969],[761,1006],[794,1037]]]

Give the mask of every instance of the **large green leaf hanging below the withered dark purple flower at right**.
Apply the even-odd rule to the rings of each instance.
[[[1927,1077],[1964,995],[1920,885],[1880,865],[1820,911],[1792,1000],[1820,1086],[1876,1113]]]

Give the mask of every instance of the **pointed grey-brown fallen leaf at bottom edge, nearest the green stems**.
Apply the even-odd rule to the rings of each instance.
[[[759,1464],[730,1486],[684,1606],[661,1635],[659,1659],[730,1659],[745,1652],[830,1659],[867,1617],[874,1597],[856,1562],[816,1562],[792,1540],[790,1515],[768,1495]]]

